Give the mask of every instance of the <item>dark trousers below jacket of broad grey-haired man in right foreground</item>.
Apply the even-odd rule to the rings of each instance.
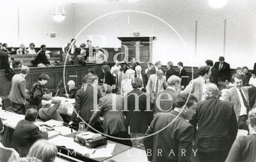
[[[198,152],[199,162],[225,162],[229,151]]]

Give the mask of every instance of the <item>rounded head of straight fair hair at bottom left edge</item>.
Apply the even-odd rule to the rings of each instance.
[[[54,162],[58,149],[48,140],[38,140],[30,148],[27,157],[35,157],[42,162]]]

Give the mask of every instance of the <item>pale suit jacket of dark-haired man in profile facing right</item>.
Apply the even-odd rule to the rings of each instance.
[[[210,79],[206,79],[207,83],[210,83]],[[191,90],[192,88],[192,90]],[[202,80],[200,77],[193,79],[189,82],[188,86],[184,89],[185,93],[190,93],[194,95],[198,101],[202,99],[203,87],[202,87]]]

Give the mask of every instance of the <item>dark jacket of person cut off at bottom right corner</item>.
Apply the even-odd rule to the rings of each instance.
[[[256,134],[239,136],[230,149],[225,162],[255,162]]]

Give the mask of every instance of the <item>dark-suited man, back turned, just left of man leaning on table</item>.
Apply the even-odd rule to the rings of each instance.
[[[90,121],[90,118],[92,117],[92,110],[96,110],[98,100],[102,97],[98,92],[97,87],[93,87],[91,85],[92,79],[89,76],[85,76],[83,78],[83,83],[84,88],[76,91],[74,111],[72,113],[72,118],[69,122],[69,125],[73,124],[77,114],[79,115],[79,122],[85,121],[86,123],[88,123]],[[94,92],[94,88],[97,89],[97,93]],[[96,122],[94,128],[96,128],[97,130],[101,130],[100,121]]]

